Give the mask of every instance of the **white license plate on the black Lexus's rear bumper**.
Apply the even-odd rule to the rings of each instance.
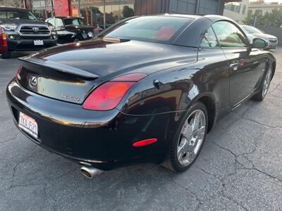
[[[32,119],[32,117],[29,117],[20,112],[20,116],[18,117],[18,127],[23,129],[25,132],[35,137],[36,139],[38,138],[37,122]]]

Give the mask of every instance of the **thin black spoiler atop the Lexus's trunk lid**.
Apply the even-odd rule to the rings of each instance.
[[[99,77],[98,75],[95,75],[91,72],[87,72],[85,70],[81,70],[81,69],[78,69],[78,68],[73,68],[72,66],[64,65],[62,63],[56,63],[56,62],[51,61],[51,60],[44,60],[44,59],[40,59],[40,58],[32,58],[30,56],[22,57],[22,58],[18,58],[18,59],[23,60],[24,62],[27,62],[27,63],[34,63],[36,65],[43,65],[45,67],[52,68],[52,69],[57,70],[59,72],[66,72],[68,74],[77,75],[77,76],[80,76],[80,77],[86,77],[86,78],[89,78],[89,79],[96,79],[96,78]]]

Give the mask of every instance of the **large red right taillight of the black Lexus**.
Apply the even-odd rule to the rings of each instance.
[[[116,77],[95,89],[85,100],[82,108],[88,110],[111,110],[116,108],[130,87],[146,76],[142,73],[133,73]]]

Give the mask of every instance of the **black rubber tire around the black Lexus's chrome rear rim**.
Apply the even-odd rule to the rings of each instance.
[[[206,127],[205,127],[205,131],[204,131],[204,138],[203,138],[203,141],[202,141],[202,145],[200,146],[200,150],[198,151],[194,160],[192,160],[192,162],[190,162],[189,165],[183,166],[183,165],[180,164],[178,157],[177,157],[178,144],[180,143],[180,134],[181,134],[181,130],[183,129],[183,125],[185,124],[186,120],[188,119],[188,117],[190,117],[190,115],[195,110],[202,110],[202,112],[204,113],[204,116],[205,116]],[[183,117],[183,120],[181,120],[181,122],[178,126],[178,129],[176,131],[175,137],[174,137],[174,139],[171,143],[167,158],[161,165],[163,165],[164,167],[166,167],[169,170],[173,170],[174,172],[184,172],[185,170],[188,170],[188,168],[195,162],[195,160],[197,159],[197,156],[200,154],[200,151],[202,150],[204,139],[206,138],[206,135],[207,135],[207,127],[208,127],[207,124],[208,124],[208,113],[207,113],[206,106],[204,106],[204,104],[202,102],[197,102],[197,103],[193,104],[188,109],[187,113]]]

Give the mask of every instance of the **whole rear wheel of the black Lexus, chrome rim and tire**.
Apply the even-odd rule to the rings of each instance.
[[[207,134],[207,108],[197,102],[190,107],[176,132],[164,167],[183,172],[195,162]]]

